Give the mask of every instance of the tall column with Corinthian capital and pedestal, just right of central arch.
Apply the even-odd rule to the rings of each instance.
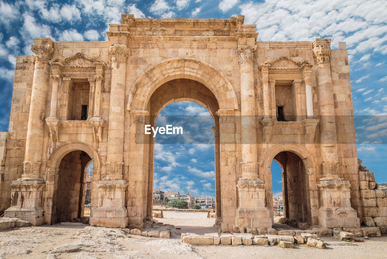
[[[241,85],[241,140],[242,175],[238,180],[239,206],[236,209],[235,227],[270,228],[271,218],[265,207],[265,184],[259,179],[257,157],[257,125],[255,114],[254,52],[256,47],[238,48]],[[268,80],[266,82],[267,104],[269,103]],[[269,106],[265,106],[265,117],[269,118]]]

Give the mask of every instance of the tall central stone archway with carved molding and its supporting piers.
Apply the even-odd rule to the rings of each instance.
[[[161,109],[179,101],[197,102],[214,118],[217,217],[222,230],[230,231],[237,208],[234,115],[238,102],[233,87],[218,69],[193,58],[168,59],[150,67],[130,92],[129,226],[142,226],[145,219],[152,218],[154,140],[144,134],[144,124],[154,125]],[[223,152],[227,156],[222,157]]]

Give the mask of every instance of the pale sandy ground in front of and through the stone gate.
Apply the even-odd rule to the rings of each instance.
[[[182,232],[211,233],[214,219],[205,213],[163,212],[159,222],[175,224]],[[200,226],[202,226],[200,228]],[[127,231],[127,230],[126,230]],[[123,259],[123,258],[387,258],[387,237],[370,238],[356,245],[337,243],[324,238],[328,248],[296,249],[263,246],[192,246],[171,239],[130,235],[122,229],[97,228],[79,223],[43,225],[0,231],[0,259]]]

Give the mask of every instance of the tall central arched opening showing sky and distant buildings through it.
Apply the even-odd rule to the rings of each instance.
[[[216,97],[200,82],[173,79],[156,89],[148,107],[152,126],[181,126],[183,134],[150,137],[148,186],[152,186],[153,195],[148,196],[148,204],[155,205],[147,216],[150,213],[153,216],[165,204],[175,204],[185,212],[164,211],[164,219],[159,221],[180,227],[182,231],[216,231],[212,225],[216,216],[221,215]],[[200,212],[187,212],[187,209]],[[210,218],[207,218],[208,211],[211,211]]]

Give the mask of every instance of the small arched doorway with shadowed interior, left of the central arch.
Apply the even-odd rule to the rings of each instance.
[[[51,224],[81,218],[84,213],[86,196],[86,168],[93,161],[93,171],[100,172],[101,161],[90,145],[81,142],[69,142],[59,146],[48,160],[46,193],[46,222]],[[91,199],[96,193],[91,189]],[[92,211],[92,209],[91,209]],[[92,214],[91,214],[92,215]]]

